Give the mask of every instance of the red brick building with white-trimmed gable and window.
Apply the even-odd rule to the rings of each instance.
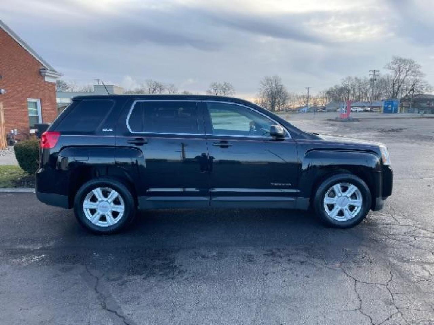
[[[17,139],[33,133],[35,123],[57,116],[56,79],[60,74],[0,20],[0,138],[17,130]],[[2,112],[0,112],[2,114]]]

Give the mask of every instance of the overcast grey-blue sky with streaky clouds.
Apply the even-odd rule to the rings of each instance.
[[[392,55],[434,84],[433,0],[2,0],[0,19],[78,84],[229,81],[253,97],[280,75],[316,93]]]

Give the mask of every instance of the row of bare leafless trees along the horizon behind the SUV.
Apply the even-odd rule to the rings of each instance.
[[[323,106],[330,101],[376,101],[387,98],[404,97],[413,94],[424,94],[432,91],[432,87],[424,79],[421,65],[411,58],[392,57],[385,65],[385,73],[371,78],[348,76],[340,84],[320,91],[318,95],[309,97],[310,106]],[[379,71],[378,71],[379,72]],[[78,87],[74,82],[57,81],[58,91],[92,92],[93,87]],[[147,80],[125,94],[193,94],[190,91],[179,91],[174,84],[165,84],[155,80]],[[230,82],[212,82],[207,94],[233,96],[235,88]],[[307,104],[304,93],[289,92],[278,75],[266,76],[260,81],[255,102],[271,111],[300,107]]]

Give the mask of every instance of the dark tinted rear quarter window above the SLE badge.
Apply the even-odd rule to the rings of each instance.
[[[102,123],[113,107],[110,100],[82,100],[60,121],[56,130],[92,132]]]

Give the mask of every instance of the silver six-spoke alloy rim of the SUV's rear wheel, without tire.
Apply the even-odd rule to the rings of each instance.
[[[86,195],[83,211],[92,224],[109,227],[121,220],[125,204],[122,196],[114,189],[97,187]]]

